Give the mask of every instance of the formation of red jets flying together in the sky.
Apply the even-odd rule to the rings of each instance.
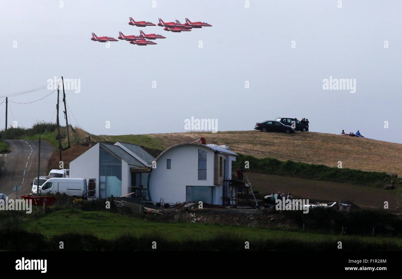
[[[156,24],[149,22],[149,21],[135,21],[133,20],[132,17],[130,17],[130,22],[128,23],[132,26],[138,26],[138,27],[146,27],[146,26],[156,26]],[[191,22],[188,18],[186,18],[186,23],[180,23],[176,19],[175,22],[164,22],[162,19],[159,18],[159,23],[158,26],[164,27],[163,30],[165,31],[170,31],[170,32],[175,32],[175,33],[180,33],[180,32],[188,32],[191,31],[193,28],[202,28],[205,26],[212,26],[211,24],[208,24],[206,22],[201,22],[201,21],[195,21]],[[123,33],[119,32],[119,37],[117,37],[119,40],[124,40],[124,41],[129,41],[130,44],[133,45],[156,45],[155,42],[150,41],[150,40],[155,40],[155,39],[166,39],[166,37],[159,35],[159,34],[145,34],[144,31],[140,30],[139,35],[124,35]],[[101,43],[106,43],[106,42],[117,42],[117,40],[113,37],[98,37],[96,36],[95,33],[92,33],[92,41],[96,42],[101,42]]]

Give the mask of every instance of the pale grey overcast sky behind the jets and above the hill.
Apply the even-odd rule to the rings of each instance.
[[[342,8],[337,0],[250,0],[249,8],[244,0],[156,0],[156,8],[152,0],[64,0],[64,8],[59,2],[0,1],[1,96],[64,75],[80,79],[81,92],[68,90],[67,103],[93,134],[183,132],[191,116],[217,119],[221,131],[252,130],[255,122],[281,116],[308,118],[314,132],[360,130],[402,143],[401,1],[343,0]],[[130,26],[129,16],[153,23],[187,17],[213,26],[171,33]],[[117,38],[140,29],[167,39],[110,48],[90,40],[92,32]],[[356,79],[356,92],[323,90],[330,76]],[[49,121],[56,98],[10,103],[9,123]],[[2,128],[4,110],[3,103]]]

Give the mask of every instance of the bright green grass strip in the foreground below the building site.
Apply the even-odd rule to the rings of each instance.
[[[298,240],[303,242],[356,240],[367,243],[395,242],[400,238],[367,236],[339,236],[309,232],[269,230],[267,228],[230,226],[207,223],[153,222],[107,211],[57,210],[46,216],[23,222],[20,227],[28,232],[40,232],[51,237],[59,234],[92,234],[101,239],[113,240],[121,236],[141,237],[160,235],[169,241],[209,240],[222,235],[232,235],[245,240]]]

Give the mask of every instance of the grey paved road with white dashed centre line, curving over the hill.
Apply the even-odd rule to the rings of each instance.
[[[16,193],[12,190],[17,183],[21,187],[20,195],[31,193],[31,183],[38,176],[39,143],[36,140],[6,140],[10,145],[10,153],[0,154],[0,193],[5,193],[15,199]],[[47,161],[53,153],[53,147],[41,142],[40,175],[47,175]]]

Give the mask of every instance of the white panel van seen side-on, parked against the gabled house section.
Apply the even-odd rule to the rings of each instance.
[[[67,196],[77,198],[87,198],[86,179],[85,178],[58,178],[52,177],[47,179],[40,187],[40,193],[65,193]]]

